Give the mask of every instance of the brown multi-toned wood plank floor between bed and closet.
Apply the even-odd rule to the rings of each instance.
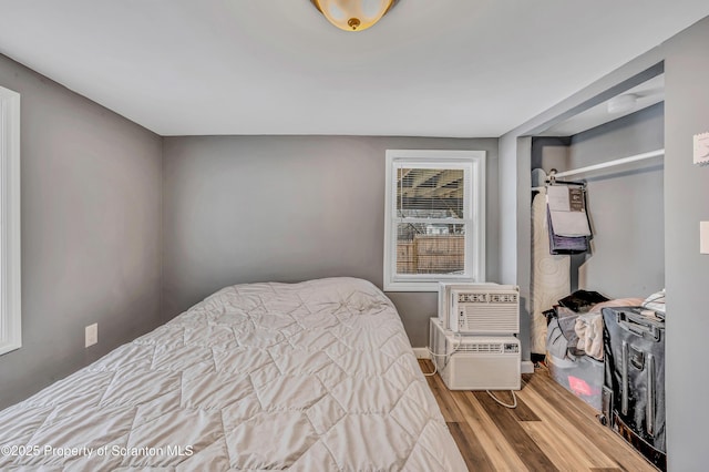
[[[419,363],[424,372],[433,371],[430,360]],[[544,367],[522,376],[515,409],[484,391],[448,390],[439,374],[427,380],[471,471],[657,472]],[[512,403],[510,392],[494,393]]]

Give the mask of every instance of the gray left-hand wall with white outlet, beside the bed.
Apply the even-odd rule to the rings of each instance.
[[[23,346],[0,356],[3,408],[158,322],[162,142],[2,55],[0,85],[22,113]]]

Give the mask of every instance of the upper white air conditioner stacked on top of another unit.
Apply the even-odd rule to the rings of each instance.
[[[499,284],[440,284],[443,328],[465,335],[520,332],[520,288]]]

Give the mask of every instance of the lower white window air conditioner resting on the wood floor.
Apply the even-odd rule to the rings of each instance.
[[[520,340],[514,336],[462,336],[431,318],[433,362],[450,390],[520,390]]]

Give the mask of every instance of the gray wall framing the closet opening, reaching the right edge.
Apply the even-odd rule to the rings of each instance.
[[[691,163],[696,133],[709,131],[709,18],[703,19],[666,43],[613,71],[588,88],[554,105],[500,138],[500,192],[505,206],[516,195],[528,194],[530,160],[524,156],[526,138],[549,125],[586,110],[656,73],[665,71],[665,284],[667,287],[666,409],[667,447],[670,471],[707,469],[705,408],[709,379],[705,346],[709,317],[705,294],[709,286],[709,256],[699,254],[699,222],[709,220],[709,168]],[[662,62],[664,61],[664,62]],[[653,72],[655,70],[655,72]],[[530,146],[531,148],[531,146]],[[516,165],[515,165],[516,164]],[[516,170],[516,173],[515,173]],[[511,194],[511,195],[504,195]],[[618,205],[624,202],[619,201]],[[528,227],[528,208],[517,205],[514,217],[501,215],[501,267],[503,283],[525,277],[528,259],[526,239],[517,236]],[[513,254],[505,255],[507,252]],[[619,264],[623,261],[619,260]]]

